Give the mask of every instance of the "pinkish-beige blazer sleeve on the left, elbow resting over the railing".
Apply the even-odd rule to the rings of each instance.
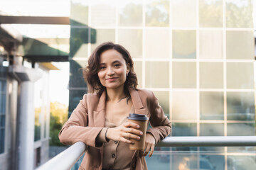
[[[84,142],[91,147],[102,147],[102,142],[96,142],[96,137],[102,130],[100,127],[88,127],[87,94],[70,115],[68,121],[59,132],[60,142],[64,145],[73,145],[75,142]]]

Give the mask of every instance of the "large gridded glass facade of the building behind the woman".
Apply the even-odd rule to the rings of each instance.
[[[71,16],[70,113],[87,92],[80,68],[112,41],[131,53],[139,88],[159,98],[171,136],[255,135],[252,0],[72,0]],[[149,169],[233,169],[244,150],[161,147],[146,160]]]

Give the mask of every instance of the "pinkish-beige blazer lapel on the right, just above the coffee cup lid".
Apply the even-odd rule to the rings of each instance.
[[[132,104],[134,106],[135,113],[146,115],[146,108],[142,105],[142,100],[139,97],[139,93],[135,89],[129,89],[129,94],[132,98]]]

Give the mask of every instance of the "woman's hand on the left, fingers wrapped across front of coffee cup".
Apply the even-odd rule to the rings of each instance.
[[[139,128],[139,125],[132,122],[126,122],[122,125],[119,125],[115,128],[109,128],[106,133],[106,137],[110,140],[115,141],[122,141],[126,143],[133,143],[131,140],[127,139],[134,139],[139,140],[142,135],[142,131],[137,130]],[[125,138],[126,137],[126,138]]]

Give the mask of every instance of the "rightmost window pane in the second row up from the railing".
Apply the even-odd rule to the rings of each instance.
[[[228,120],[255,120],[253,92],[227,92]]]

